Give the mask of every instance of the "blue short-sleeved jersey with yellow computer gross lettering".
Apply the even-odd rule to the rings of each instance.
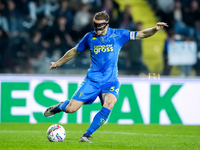
[[[135,40],[137,32],[108,27],[107,33],[98,36],[95,31],[87,33],[77,45],[77,51],[90,49],[91,66],[87,77],[101,83],[117,80],[118,56],[122,46],[129,40]]]

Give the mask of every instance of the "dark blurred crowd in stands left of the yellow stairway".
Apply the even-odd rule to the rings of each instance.
[[[130,9],[127,6],[120,12],[113,0],[1,0],[0,73],[51,73],[50,62],[93,30],[96,12],[105,10],[112,28],[134,30]],[[119,67],[127,70],[123,53],[120,59]],[[89,66],[90,53],[85,51],[60,70],[87,70]]]

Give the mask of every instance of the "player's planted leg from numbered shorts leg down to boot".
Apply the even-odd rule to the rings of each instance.
[[[100,99],[102,101],[103,107],[95,115],[90,127],[79,140],[80,142],[91,142],[89,140],[90,135],[105,123],[108,116],[110,115],[112,108],[114,107],[114,104],[117,102],[118,91],[119,91],[119,82],[108,84],[105,86],[105,89],[102,90],[102,92],[104,93],[102,93]]]

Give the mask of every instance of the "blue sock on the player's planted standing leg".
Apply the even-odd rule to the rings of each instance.
[[[102,126],[107,120],[110,112],[110,109],[102,107],[102,109],[94,116],[94,119],[88,130],[85,132],[85,134],[90,136],[94,131],[96,131],[100,126]]]

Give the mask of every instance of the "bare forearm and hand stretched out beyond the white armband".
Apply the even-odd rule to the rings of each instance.
[[[143,39],[154,35],[158,30],[161,30],[163,27],[168,27],[165,22],[158,22],[155,27],[148,28],[142,31],[138,31],[136,35],[136,39]]]

